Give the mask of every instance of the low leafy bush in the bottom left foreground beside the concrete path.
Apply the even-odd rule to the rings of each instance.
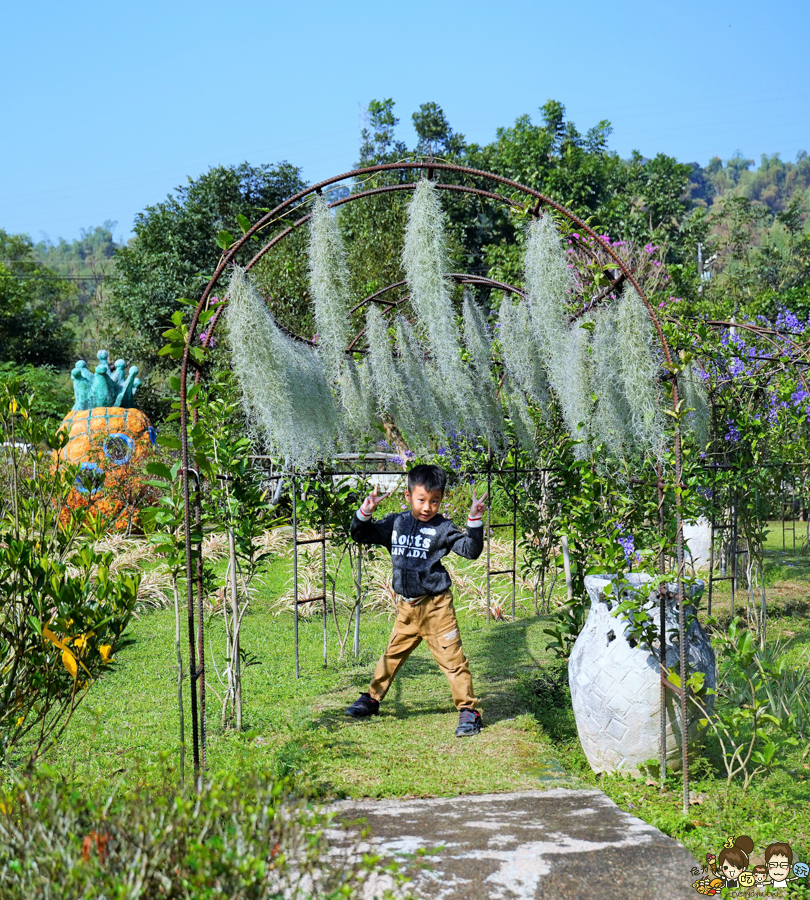
[[[337,900],[364,896],[376,857],[327,843],[331,816],[284,782],[230,777],[178,794],[136,787],[91,798],[40,775],[0,805],[4,900]],[[332,827],[337,828],[337,825]],[[328,860],[327,860],[328,856]],[[394,870],[386,880],[396,882]],[[374,896],[390,896],[374,882]],[[370,885],[369,885],[370,887]]]

